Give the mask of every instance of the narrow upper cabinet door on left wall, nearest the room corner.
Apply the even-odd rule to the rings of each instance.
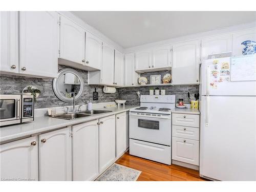
[[[124,59],[123,54],[115,50],[115,84],[123,86],[124,81]]]

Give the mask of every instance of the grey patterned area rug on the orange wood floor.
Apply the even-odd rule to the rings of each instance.
[[[114,163],[95,181],[136,181],[140,174],[139,170]]]

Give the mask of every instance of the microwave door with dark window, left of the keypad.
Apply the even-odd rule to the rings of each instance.
[[[1,126],[20,122],[20,95],[0,95]]]

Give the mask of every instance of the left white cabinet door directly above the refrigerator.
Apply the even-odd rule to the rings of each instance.
[[[220,35],[202,39],[201,57],[207,59],[208,55],[224,53],[232,50],[232,35]]]

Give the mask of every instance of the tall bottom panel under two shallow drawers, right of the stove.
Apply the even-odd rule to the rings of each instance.
[[[199,165],[199,141],[173,137],[172,159]]]

